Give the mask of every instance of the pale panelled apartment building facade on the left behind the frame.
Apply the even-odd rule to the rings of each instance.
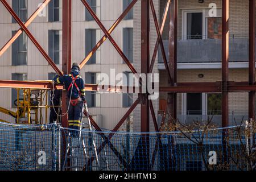
[[[8,0],[9,5],[26,22],[32,13],[40,6],[41,0]],[[90,0],[87,1],[104,26],[108,29],[130,0]],[[62,1],[52,0],[47,7],[28,26],[28,30],[46,50],[51,59],[62,68]],[[20,28],[3,5],[0,5],[0,47],[11,38]],[[98,40],[104,36],[100,27],[85,9],[81,1],[72,1],[72,62],[80,63]],[[129,60],[133,61],[133,10],[112,33],[118,46],[123,49]],[[22,33],[18,39],[0,57],[1,80],[51,80],[55,72],[47,63],[31,40]],[[88,84],[101,81],[101,73],[110,75],[115,73],[129,73],[129,68],[118,55],[109,40],[106,40],[81,69],[81,76]],[[0,89],[1,107],[16,110],[15,89]],[[129,94],[100,94],[86,92],[89,112],[94,119],[106,129],[112,129],[132,103]],[[0,113],[5,121],[15,122],[9,115]]]

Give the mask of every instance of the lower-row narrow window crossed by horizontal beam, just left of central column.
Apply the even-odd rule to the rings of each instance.
[[[123,72],[123,86],[132,86],[133,75],[131,72]],[[123,93],[122,105],[123,107],[130,107],[133,104],[133,94],[132,93]]]

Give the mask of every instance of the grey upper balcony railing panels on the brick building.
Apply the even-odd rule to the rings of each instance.
[[[168,57],[168,40],[163,40]],[[249,38],[229,38],[229,61],[247,62],[249,59]],[[168,61],[168,60],[167,60]],[[187,39],[177,41],[177,63],[218,63],[221,62],[221,39]],[[158,51],[158,63],[163,63]]]

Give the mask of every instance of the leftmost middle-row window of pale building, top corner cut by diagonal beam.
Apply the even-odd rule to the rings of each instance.
[[[12,33],[14,35],[16,31]],[[11,62],[12,65],[27,64],[27,35],[24,32],[11,45]]]

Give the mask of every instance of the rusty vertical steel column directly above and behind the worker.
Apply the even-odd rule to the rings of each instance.
[[[62,69],[63,74],[68,74],[71,69],[71,9],[72,4],[71,0],[63,0],[63,23],[62,23]],[[66,104],[66,95],[67,92],[63,91],[62,93],[62,113],[67,112]],[[61,118],[62,126],[68,127],[68,117],[67,114]]]

